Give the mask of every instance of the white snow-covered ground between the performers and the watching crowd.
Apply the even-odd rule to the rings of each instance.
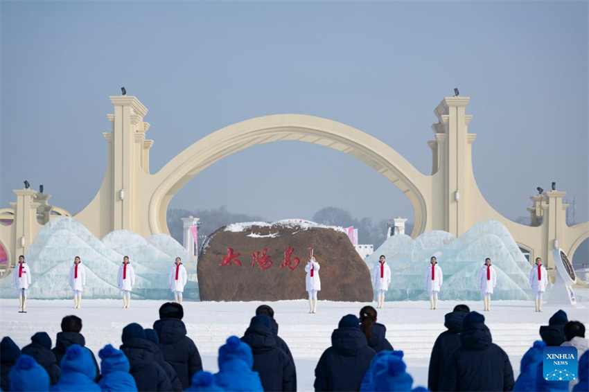
[[[585,301],[587,290],[577,292]],[[105,344],[121,344],[123,327],[131,322],[152,328],[162,301],[132,301],[130,309],[122,309],[122,301],[87,300],[82,308],[73,310],[73,301],[30,300],[27,313],[18,312],[18,299],[0,300],[0,332],[10,336],[19,347],[30,343],[38,331],[46,331],[52,339],[60,330],[62,317],[76,314],[83,321],[82,334],[87,346],[98,353]],[[451,312],[458,301],[441,301],[438,310],[430,310],[425,301],[387,302],[378,312],[378,322],[387,326],[387,338],[397,350],[405,351],[407,371],[414,386],[426,385],[429,355],[434,340],[443,327],[443,316]],[[494,301],[491,312],[482,312],[482,301],[463,301],[471,310],[484,314],[493,341],[507,352],[513,371],[518,375],[521,356],[534,340],[540,339],[538,329],[546,325],[558,307],[543,306],[534,312],[531,301]],[[364,303],[319,301],[317,314],[308,314],[306,301],[268,303],[274,308],[279,323],[279,335],[285,339],[297,365],[299,390],[312,391],[314,370],[319,356],[331,344],[331,332],[345,314],[358,315]],[[200,350],[205,370],[216,372],[218,348],[229,335],[242,336],[261,302],[184,302],[184,323],[188,336]],[[589,324],[588,303],[577,308],[565,308],[570,320]],[[312,338],[312,339],[310,339]],[[55,344],[55,341],[53,341]]]

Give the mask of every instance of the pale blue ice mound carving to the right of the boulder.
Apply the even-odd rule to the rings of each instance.
[[[369,269],[380,255],[386,256],[392,273],[387,301],[428,299],[425,268],[432,256],[443,271],[442,300],[481,299],[477,277],[485,258],[491,258],[497,269],[493,299],[531,298],[531,265],[507,228],[497,221],[479,222],[459,238],[446,231],[428,231],[414,240],[409,235],[393,235],[365,259]]]

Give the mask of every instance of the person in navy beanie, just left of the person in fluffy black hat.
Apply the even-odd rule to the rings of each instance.
[[[123,328],[121,351],[129,359],[130,374],[135,379],[137,390],[164,392],[170,391],[172,384],[164,369],[155,362],[151,342],[146,339],[146,332],[137,323],[130,323]]]

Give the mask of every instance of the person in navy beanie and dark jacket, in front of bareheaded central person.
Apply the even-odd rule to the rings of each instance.
[[[260,375],[264,391],[296,391],[294,380],[297,375],[292,360],[276,346],[270,318],[263,315],[252,317],[241,341],[252,348],[252,370]]]

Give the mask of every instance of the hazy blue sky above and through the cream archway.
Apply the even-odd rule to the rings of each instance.
[[[433,110],[458,87],[491,206],[515,220],[556,181],[588,220],[587,1],[0,1],[0,208],[27,179],[81,211],[122,86],[149,109],[151,172],[222,127],[295,113],[367,132],[428,175]],[[221,205],[413,220],[378,172],[300,142],[232,154],[170,202]]]

